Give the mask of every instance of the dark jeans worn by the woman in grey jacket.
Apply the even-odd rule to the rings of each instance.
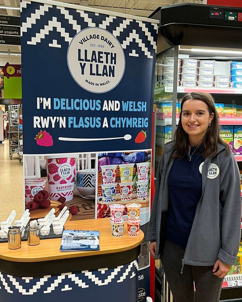
[[[194,302],[194,285],[198,302],[219,302],[223,278],[213,275],[213,266],[184,265],[181,274],[181,259],[185,249],[165,241],[161,255],[165,277],[175,302]]]

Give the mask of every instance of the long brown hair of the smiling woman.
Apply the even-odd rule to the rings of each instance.
[[[203,152],[201,156],[206,157],[214,157],[217,154],[217,145],[220,143],[226,149],[226,154],[230,154],[230,147],[227,143],[225,143],[221,137],[219,136],[219,117],[217,114],[217,110],[214,105],[214,98],[209,93],[205,92],[191,92],[184,95],[181,100],[181,114],[182,114],[182,107],[185,101],[187,100],[200,100],[203,101],[208,106],[209,115],[214,113],[214,118],[211,121],[211,126],[208,127],[207,132],[204,135],[203,140],[200,142],[200,145],[204,144]],[[186,154],[186,149],[188,146],[188,134],[182,127],[181,124],[181,114],[177,129],[175,131],[175,146],[176,146],[176,154],[174,158],[183,158]]]

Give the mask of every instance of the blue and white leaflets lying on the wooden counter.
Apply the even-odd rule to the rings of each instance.
[[[97,250],[100,250],[99,231],[64,230],[60,246],[61,252]]]

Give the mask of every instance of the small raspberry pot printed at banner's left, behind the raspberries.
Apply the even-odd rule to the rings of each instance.
[[[45,190],[45,178],[25,178],[25,202],[33,201],[34,195]]]

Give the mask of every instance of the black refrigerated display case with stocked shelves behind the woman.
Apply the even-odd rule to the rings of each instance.
[[[154,89],[155,175],[164,145],[174,137],[181,99],[193,91],[213,95],[221,137],[230,144],[242,175],[242,8],[185,3],[158,8],[150,18],[160,20]],[[241,256],[224,278],[221,301],[242,301]],[[155,284],[155,301],[172,302],[162,268],[156,268]]]

